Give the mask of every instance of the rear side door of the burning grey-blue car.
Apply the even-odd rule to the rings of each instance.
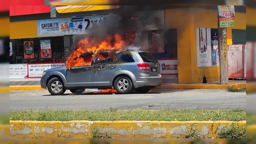
[[[92,86],[110,86],[110,79],[117,71],[117,63],[113,58],[100,60],[97,55],[92,64]]]

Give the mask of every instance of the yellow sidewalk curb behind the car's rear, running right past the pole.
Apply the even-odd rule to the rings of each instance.
[[[158,89],[243,89],[246,88],[246,83],[236,84],[171,84],[171,85],[160,85]]]

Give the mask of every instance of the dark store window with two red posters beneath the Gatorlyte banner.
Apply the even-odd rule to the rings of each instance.
[[[50,49],[41,54],[42,42],[43,47],[50,46]],[[63,36],[12,39],[10,43],[13,49],[10,64],[65,62]]]

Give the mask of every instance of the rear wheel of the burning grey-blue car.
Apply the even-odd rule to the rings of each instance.
[[[127,94],[132,91],[132,81],[126,76],[117,77],[114,83],[117,94]]]

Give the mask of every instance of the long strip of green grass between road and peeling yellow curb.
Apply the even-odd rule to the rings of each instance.
[[[10,111],[10,120],[37,120],[37,121],[118,121],[118,120],[148,120],[148,121],[203,121],[203,120],[246,120],[246,110],[75,110],[75,111]]]

